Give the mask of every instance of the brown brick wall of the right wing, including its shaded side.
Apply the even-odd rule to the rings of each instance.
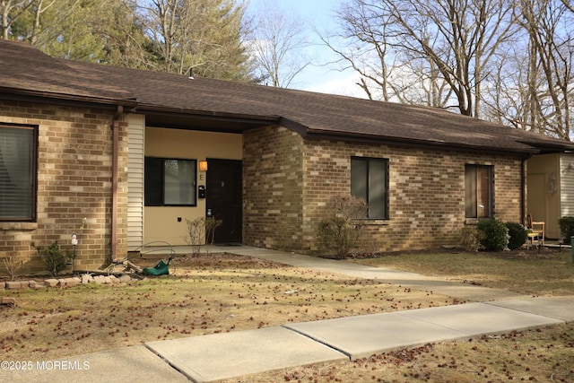
[[[289,139],[282,143],[280,137]],[[521,222],[517,157],[303,140],[283,128],[258,129],[244,138],[246,244],[289,248],[283,246],[288,240],[293,250],[315,252],[317,223],[326,202],[331,196],[350,194],[352,156],[389,161],[389,219],[365,221],[362,245],[366,250],[457,244],[458,231],[467,223],[465,164],[494,166],[496,218]],[[287,183],[286,175],[291,176]],[[297,219],[286,220],[290,214]]]

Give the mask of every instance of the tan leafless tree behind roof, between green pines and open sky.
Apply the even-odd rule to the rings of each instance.
[[[251,79],[243,45],[245,4],[235,0],[150,0],[142,7],[157,69]]]

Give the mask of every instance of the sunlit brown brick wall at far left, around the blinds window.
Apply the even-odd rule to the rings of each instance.
[[[0,122],[39,126],[37,222],[0,222],[0,258],[16,256],[26,273],[43,265],[30,247],[58,240],[72,250],[79,237],[76,268],[106,263],[110,253],[111,152],[113,111],[0,101]],[[118,180],[118,257],[126,254],[127,129],[120,123]],[[83,218],[86,228],[80,233]],[[4,272],[4,270],[3,270]]]

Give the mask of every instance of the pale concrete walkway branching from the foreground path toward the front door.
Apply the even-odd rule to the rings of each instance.
[[[181,249],[180,249],[181,250]],[[185,249],[183,249],[185,251]],[[351,262],[250,247],[213,248],[352,277],[428,290],[472,301],[455,306],[413,309],[327,319],[150,342],[66,358],[74,369],[0,370],[1,381],[210,382],[267,370],[344,361],[431,342],[504,333],[574,320],[574,296],[535,298],[467,283],[404,273]],[[89,369],[85,369],[86,362]],[[38,367],[34,363],[33,367]],[[75,367],[82,368],[76,369]]]

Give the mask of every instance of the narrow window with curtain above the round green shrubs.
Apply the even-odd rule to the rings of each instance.
[[[491,166],[465,166],[466,218],[491,218],[494,198],[494,177]]]

